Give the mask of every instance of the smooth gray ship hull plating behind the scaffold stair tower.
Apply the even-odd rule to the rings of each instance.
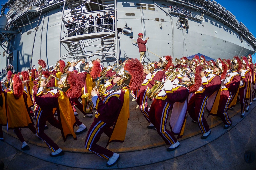
[[[129,34],[118,34],[117,46],[120,59],[126,57],[140,57],[136,44],[138,33],[142,32],[144,38],[149,37],[146,44],[147,50],[145,62],[156,61],[158,56],[171,55],[173,58],[181,58],[197,53],[204,54],[211,58],[232,58],[233,56],[247,56],[252,54],[254,47],[245,39],[241,41],[241,36],[236,31],[227,27],[222,22],[214,18],[203,15],[200,11],[192,11],[193,17],[188,17],[189,29],[179,27],[179,19],[184,16],[170,12],[168,6],[175,5],[170,1],[141,1],[145,5],[144,9],[136,4],[138,1],[117,1],[117,28],[120,30],[128,27],[132,28]],[[150,6],[150,7],[149,7]],[[9,54],[13,57],[4,55],[4,49],[0,47],[0,68],[5,68],[7,64],[13,64],[15,71],[23,71],[30,68],[31,51],[35,37],[32,65],[38,65],[38,59],[46,61],[47,66],[56,63],[61,54],[66,54],[67,45],[60,47],[59,36],[61,28],[61,16],[63,3],[52,8],[41,15],[38,30],[35,31],[39,16],[20,26],[15,40],[12,41],[14,48],[10,48]],[[69,12],[67,8],[64,11]],[[127,16],[132,13],[133,16]],[[94,14],[93,14],[94,15]],[[96,15],[95,15],[96,16]],[[201,16],[201,18],[200,18]],[[199,19],[200,18],[200,19]],[[63,25],[62,25],[63,27]],[[17,29],[16,29],[17,31]],[[63,33],[62,33],[63,34]],[[99,45],[99,42],[95,42]],[[86,47],[87,51],[93,47]],[[73,60],[71,58],[65,61]],[[100,58],[99,56],[90,57],[87,61]],[[113,62],[104,63],[104,66]]]

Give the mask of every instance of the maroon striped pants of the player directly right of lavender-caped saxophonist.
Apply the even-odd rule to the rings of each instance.
[[[201,132],[204,134],[210,130],[204,117],[204,110],[208,96],[202,93],[194,94],[188,102],[188,114],[193,120],[197,120]]]

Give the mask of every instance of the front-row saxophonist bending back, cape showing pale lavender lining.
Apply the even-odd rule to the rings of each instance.
[[[188,94],[195,92],[200,85],[200,76],[194,72],[189,72],[182,78],[182,83],[173,84],[167,80],[153,101],[149,119],[165,143],[171,145],[167,151],[173,151],[179,147],[179,142],[174,135],[178,135],[177,138],[182,137],[187,116]],[[170,132],[166,129],[166,123],[172,106],[169,123],[172,132]]]

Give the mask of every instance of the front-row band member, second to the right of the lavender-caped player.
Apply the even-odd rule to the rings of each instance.
[[[242,68],[242,62],[238,56],[234,57],[231,62],[231,71],[226,75],[225,80],[221,83],[220,101],[217,114],[225,124],[224,129],[228,129],[232,121],[228,116],[227,110],[229,105],[236,104],[237,95],[240,86],[240,74],[237,72]]]

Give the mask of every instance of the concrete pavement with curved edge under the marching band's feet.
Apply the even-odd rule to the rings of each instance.
[[[229,129],[223,129],[219,117],[209,116],[207,121],[212,131],[205,140],[200,138],[198,125],[191,123],[188,116],[180,147],[167,152],[169,146],[156,131],[146,128],[148,123],[136,109],[136,102],[131,101],[126,139],[124,143],[113,142],[109,146],[121,156],[113,167],[107,168],[106,160],[85,150],[87,132],[78,135],[77,140],[69,138],[63,142],[60,130],[51,126],[46,134],[65,151],[64,156],[51,158],[50,149],[28,129],[22,129],[30,150],[21,151],[21,142],[9,131],[9,135],[4,134],[5,142],[0,141],[0,161],[4,162],[5,169],[255,169],[255,160],[249,164],[243,158],[248,150],[256,153],[255,105],[253,102],[244,118],[238,113],[240,106],[228,111],[232,120]],[[88,127],[93,121],[82,115],[79,119]],[[6,132],[6,128],[3,129]],[[107,137],[102,135],[99,145],[105,146],[106,141]]]

